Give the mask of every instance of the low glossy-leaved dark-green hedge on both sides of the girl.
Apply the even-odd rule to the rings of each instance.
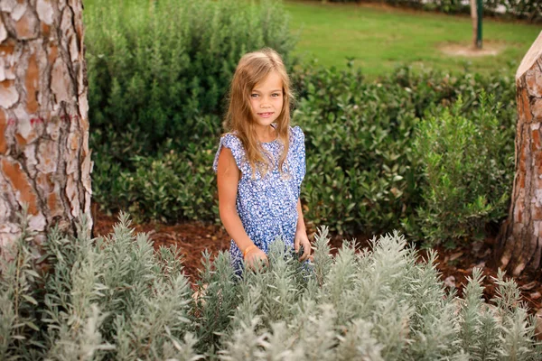
[[[423,225],[435,226],[426,218],[442,215],[435,214],[440,200],[429,190],[443,184],[435,184],[440,178],[427,171],[427,157],[459,151],[448,142],[427,148],[427,153],[416,153],[416,142],[435,143],[435,136],[441,136],[428,134],[432,128],[424,124],[431,119],[435,124],[447,125],[449,129],[443,134],[453,140],[470,139],[473,135],[469,132],[480,128],[487,129],[484,134],[499,131],[499,137],[481,137],[475,146],[465,143],[472,147],[462,151],[463,172],[456,173],[454,180],[492,179],[491,185],[473,187],[468,197],[456,200],[472,204],[480,197],[501,199],[495,209],[486,213],[487,218],[481,218],[481,223],[498,221],[504,214],[513,171],[516,117],[511,75],[465,72],[450,76],[438,71],[414,74],[401,68],[378,83],[368,83],[360,70],[306,67],[295,71],[292,78],[298,97],[294,123],[304,129],[307,154],[302,201],[305,218],[313,227],[329,224],[340,233],[366,234],[404,227],[413,237],[433,239],[429,230],[422,231]],[[491,93],[491,100],[481,102],[483,92]],[[461,105],[454,107],[452,116],[447,114],[445,109],[460,96]],[[454,125],[459,116],[468,126]],[[209,123],[219,122],[212,117],[207,117]],[[218,131],[220,128],[215,129]],[[210,166],[219,134],[186,143],[183,150],[169,141],[156,155],[130,157],[129,153],[138,152],[135,133],[119,134],[111,129],[105,132],[110,134],[103,136],[98,130],[91,135],[96,146],[95,199],[104,208],[130,209],[138,219],[218,220],[216,184]],[[102,137],[108,142],[103,142]],[[499,159],[493,162],[491,157],[482,157],[490,153],[481,149],[495,150]],[[127,167],[117,164],[116,154],[130,159]],[[461,182],[445,184],[449,191],[470,187]],[[460,202],[451,205],[453,209],[449,210],[463,214]],[[458,224],[463,221],[461,218]],[[434,230],[440,233],[440,229]],[[449,236],[461,238],[462,234],[472,236],[472,227],[459,227],[455,236]],[[443,239],[448,238],[443,235]]]

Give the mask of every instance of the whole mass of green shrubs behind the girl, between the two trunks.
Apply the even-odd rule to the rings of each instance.
[[[210,165],[229,77],[244,51],[269,45],[291,70],[293,121],[306,139],[302,202],[313,229],[402,229],[427,245],[457,245],[505,215],[514,152],[511,69],[481,75],[404,66],[373,81],[352,62],[337,69],[296,60],[280,3],[150,4],[125,11],[95,0],[88,7],[92,177],[104,210],[125,209],[139,221],[219,222]],[[431,148],[435,136],[449,142]],[[423,144],[427,152],[416,153]],[[451,162],[450,179],[439,170]]]

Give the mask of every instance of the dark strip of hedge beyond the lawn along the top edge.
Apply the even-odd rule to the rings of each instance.
[[[394,6],[437,10],[450,14],[470,14],[471,6],[464,0],[324,0],[332,3],[386,3]],[[538,0],[483,0],[484,14],[504,15],[512,18],[542,22],[542,4]],[[500,6],[502,6],[500,8]],[[504,11],[504,14],[502,14]]]

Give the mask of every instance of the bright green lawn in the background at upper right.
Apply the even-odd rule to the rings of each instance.
[[[388,73],[400,64],[415,69],[469,69],[486,73],[513,68],[537,38],[540,25],[483,20],[483,41],[500,47],[498,55],[463,57],[444,54],[444,44],[472,42],[468,16],[453,16],[355,4],[286,1],[292,28],[299,32],[296,54],[316,58],[325,66],[346,67],[353,58],[369,78]]]

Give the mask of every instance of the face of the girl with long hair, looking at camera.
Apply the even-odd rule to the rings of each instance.
[[[282,112],[283,103],[282,79],[276,71],[257,83],[250,93],[250,106],[258,125],[274,123]]]

